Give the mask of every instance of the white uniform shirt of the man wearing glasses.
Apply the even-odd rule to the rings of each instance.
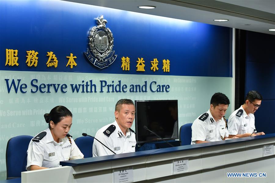
[[[236,116],[239,110],[243,110],[241,116]],[[255,117],[254,114],[245,112],[243,106],[235,110],[228,118],[228,132],[229,135],[237,135],[244,133],[252,133],[255,129]]]

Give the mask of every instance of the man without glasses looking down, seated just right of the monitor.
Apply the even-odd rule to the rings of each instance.
[[[191,144],[228,139],[224,115],[229,104],[229,99],[223,93],[215,93],[212,96],[210,109],[192,124]]]

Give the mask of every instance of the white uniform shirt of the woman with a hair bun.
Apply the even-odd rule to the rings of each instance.
[[[50,128],[45,131],[47,134],[39,142],[31,140],[29,143],[26,170],[31,170],[31,165],[47,168],[59,167],[60,161],[84,157],[72,138],[71,143],[67,137],[60,139],[57,143],[53,140]]]

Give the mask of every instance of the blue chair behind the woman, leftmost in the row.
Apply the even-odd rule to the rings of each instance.
[[[6,149],[7,179],[21,177],[21,172],[27,171],[27,150],[33,137],[19,135],[10,138]]]

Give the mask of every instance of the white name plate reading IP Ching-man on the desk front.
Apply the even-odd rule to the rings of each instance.
[[[123,167],[114,170],[114,182],[133,182],[133,167]]]

